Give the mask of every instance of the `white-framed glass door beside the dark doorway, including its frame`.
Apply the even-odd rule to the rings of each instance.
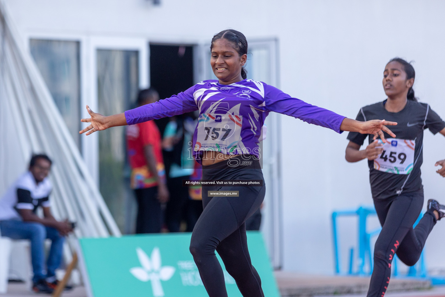
[[[148,86],[148,48],[144,38],[90,37],[86,41],[88,82],[85,105],[104,115],[134,107],[139,89]],[[84,158],[101,194],[123,234],[134,232],[136,202],[129,189],[125,129],[93,133],[83,138]]]

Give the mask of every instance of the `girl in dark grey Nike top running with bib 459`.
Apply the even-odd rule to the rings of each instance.
[[[360,109],[358,121],[376,118],[397,122],[392,131],[397,138],[383,143],[369,137],[369,145],[360,151],[368,137],[350,132],[346,160],[368,159],[372,198],[382,231],[374,249],[374,270],[368,297],[383,297],[391,276],[391,262],[396,253],[405,264],[416,264],[429,232],[445,216],[445,206],[428,200],[427,212],[413,229],[423,206],[422,164],[423,130],[445,136],[445,122],[426,103],[414,97],[414,68],[407,61],[394,58],[383,73],[383,88],[388,99]],[[385,135],[386,137],[387,135]],[[445,177],[445,160],[437,161],[437,173]]]

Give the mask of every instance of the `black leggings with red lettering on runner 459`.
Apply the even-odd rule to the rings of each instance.
[[[421,256],[429,232],[436,224],[433,212],[426,212],[413,229],[423,206],[423,190],[374,199],[382,231],[374,249],[374,270],[367,297],[383,297],[391,277],[394,253],[399,259],[413,266]]]

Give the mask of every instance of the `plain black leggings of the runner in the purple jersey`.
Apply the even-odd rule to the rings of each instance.
[[[243,162],[241,157],[235,158]],[[221,161],[202,166],[202,179],[263,180],[262,187],[202,187],[204,211],[193,229],[190,252],[210,297],[227,297],[215,249],[244,297],[264,297],[247,249],[245,221],[260,207],[266,187],[258,160],[247,162],[251,165],[231,167],[228,161]],[[239,197],[208,197],[207,191],[239,191]]]

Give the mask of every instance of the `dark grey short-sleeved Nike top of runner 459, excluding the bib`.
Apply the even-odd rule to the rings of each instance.
[[[429,129],[433,134],[441,131],[445,127],[445,122],[429,107],[429,104],[408,100],[403,110],[399,112],[389,112],[384,108],[386,100],[372,105],[364,106],[357,114],[357,121],[369,121],[375,119],[384,119],[386,121],[397,122],[396,126],[388,128],[396,134],[398,139],[409,139],[415,142],[413,167],[409,174],[395,174],[383,172],[374,169],[374,161],[368,160],[369,181],[371,183],[371,192],[374,199],[385,199],[393,195],[400,195],[402,192],[413,192],[422,189],[420,167],[423,162],[423,130]],[[384,133],[385,138],[390,137]],[[352,142],[363,145],[365,138],[369,136],[369,144],[373,141],[374,135],[360,134],[358,132],[349,132],[348,139]],[[391,143],[391,138],[388,139]],[[397,145],[397,142],[395,142]],[[377,162],[394,160],[395,164],[403,162],[403,154],[400,159],[396,155],[390,155],[390,151],[384,151]],[[405,155],[406,157],[406,155]],[[397,162],[396,162],[397,161]]]

